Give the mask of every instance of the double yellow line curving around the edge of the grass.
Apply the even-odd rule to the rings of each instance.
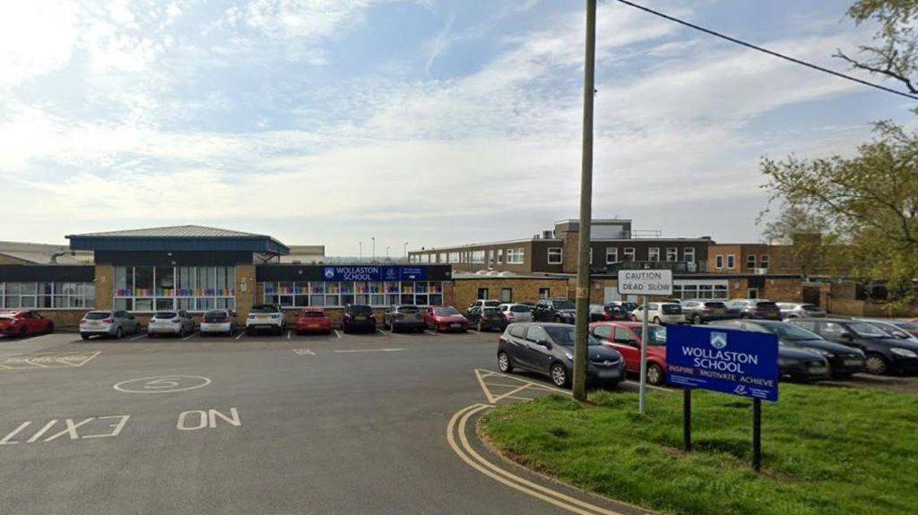
[[[553,504],[554,506],[580,515],[623,515],[618,511],[606,510],[599,506],[589,504],[580,499],[574,499],[552,488],[546,488],[516,476],[507,470],[500,468],[487,461],[479,455],[468,442],[467,428],[469,419],[480,411],[493,408],[490,404],[473,404],[462,410],[456,411],[453,418],[450,419],[446,426],[446,441],[453,448],[453,452],[458,455],[468,466],[476,469],[487,477],[498,481],[499,483],[521,491],[522,493],[532,496],[536,499]],[[456,443],[456,436],[459,437],[459,443]]]

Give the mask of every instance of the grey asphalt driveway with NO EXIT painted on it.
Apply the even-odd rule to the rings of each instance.
[[[496,334],[130,339],[0,341],[0,512],[565,512],[446,442]]]

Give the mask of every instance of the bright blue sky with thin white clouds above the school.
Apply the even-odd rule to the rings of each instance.
[[[643,1],[838,71],[873,28],[838,0]],[[395,257],[541,233],[578,215],[584,27],[571,0],[0,3],[0,239],[196,224]],[[758,241],[762,157],[912,125],[612,0],[596,69],[594,217],[667,237]]]

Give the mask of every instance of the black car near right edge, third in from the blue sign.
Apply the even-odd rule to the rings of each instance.
[[[862,350],[870,374],[918,372],[918,344],[890,336],[869,323],[841,318],[797,318],[789,323],[830,342]]]

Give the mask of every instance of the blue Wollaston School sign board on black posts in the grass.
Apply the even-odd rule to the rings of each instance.
[[[778,400],[778,336],[735,329],[666,327],[670,384]]]

